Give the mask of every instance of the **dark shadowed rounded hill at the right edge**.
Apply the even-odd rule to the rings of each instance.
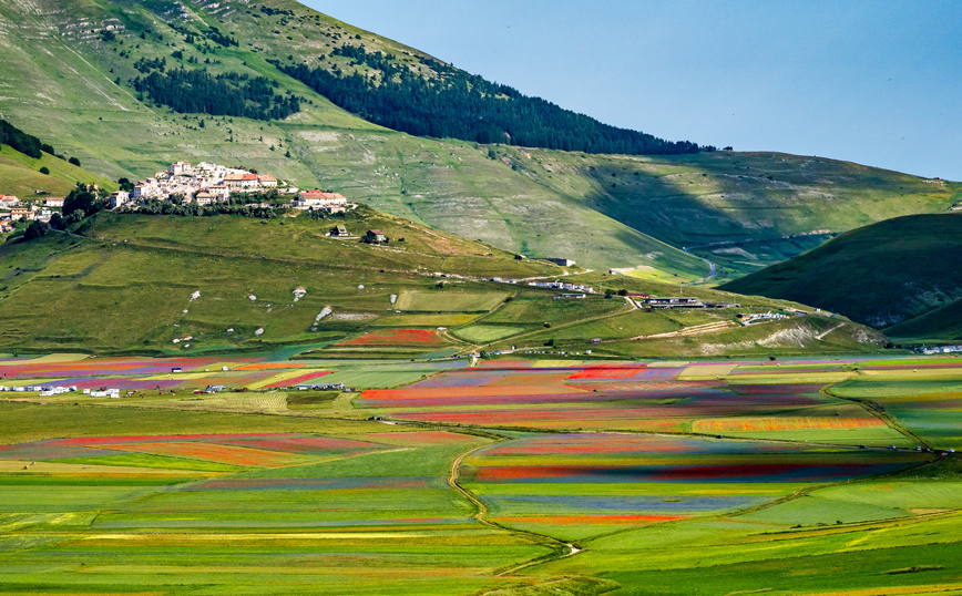
[[[897,337],[958,337],[962,213],[861,227],[722,289],[815,305]]]

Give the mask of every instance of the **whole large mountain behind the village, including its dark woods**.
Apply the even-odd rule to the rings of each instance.
[[[290,0],[34,0],[0,6],[0,114],[100,175],[143,178],[213,157],[511,251],[641,277],[705,278],[708,259],[729,279],[832,233],[943,212],[962,192],[825,158],[690,153],[697,146],[576,117]],[[391,111],[386,81],[419,90],[418,112]],[[352,103],[338,91],[351,84],[385,92]],[[526,133],[549,148],[483,143],[514,142],[502,133],[516,116],[465,91],[475,86],[530,111],[541,129]],[[457,106],[503,117],[484,132],[452,120]],[[419,129],[436,120],[444,126]],[[575,141],[582,151],[551,148]],[[677,154],[593,153],[608,150]]]

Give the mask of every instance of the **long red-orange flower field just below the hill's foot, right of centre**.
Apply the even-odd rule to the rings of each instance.
[[[743,366],[764,368],[766,378],[761,382],[738,374],[704,379],[706,369],[734,373]],[[358,402],[396,418],[444,424],[910,444],[870,411],[821,393],[825,383],[799,382],[799,377],[822,376],[821,369],[839,364],[807,366],[811,371],[799,373],[796,367],[755,363],[532,368],[510,361],[502,369],[452,370],[399,389],[368,390]],[[683,373],[699,380],[679,379]],[[787,382],[775,382],[779,374]]]

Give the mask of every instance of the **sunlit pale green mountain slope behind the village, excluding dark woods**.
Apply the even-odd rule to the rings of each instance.
[[[269,3],[293,8],[298,16],[309,12],[295,2]],[[42,4],[53,10],[60,2],[45,0]],[[327,43],[341,43],[329,34],[359,33],[327,17],[317,22],[311,19],[309,23],[291,19],[288,25],[282,25],[282,17],[254,19],[238,11],[226,18],[226,24],[219,22],[218,18],[240,6],[236,2],[223,2],[221,6],[229,10],[218,10],[217,14],[201,9],[195,12],[197,19],[219,25],[240,40],[239,49],[217,51],[214,58],[223,64],[212,65],[212,72],[264,74],[278,80],[282,91],[290,90],[314,102],[287,121],[205,117],[206,126],[199,129],[193,116],[185,121],[166,109],[141,104],[132,90],[114,85],[112,79],[136,76],[132,63],[141,56],[166,56],[173,65],[176,61],[170,56],[172,48],[166,45],[171,40],[175,40],[177,48],[187,47],[182,35],[150,12],[153,9],[163,14],[167,8],[164,2],[113,4],[111,12],[93,3],[70,6],[71,14],[89,16],[91,31],[113,22],[109,19],[122,20],[127,32],[113,43],[100,41],[94,33],[84,35],[75,33],[76,29],[68,30],[54,17],[27,16],[12,7],[0,7],[0,19],[20,25],[0,44],[24,64],[16,72],[4,70],[3,78],[9,80],[11,90],[35,91],[18,96],[18,101],[0,101],[0,111],[14,122],[31,122],[32,133],[70,147],[72,154],[96,172],[111,177],[144,177],[173,160],[196,162],[214,154],[219,163],[249,164],[300,186],[337,188],[382,210],[512,250],[575,258],[603,267],[655,265],[642,255],[657,249],[667,255],[658,263],[665,269],[688,278],[705,275],[705,266],[697,258],[488,160],[487,148],[457,141],[417,138],[375,126],[337,109],[265,62],[267,58],[288,54],[316,60],[321,51],[329,52]],[[116,6],[132,13],[124,14]],[[147,23],[164,34],[164,41],[155,35],[141,40],[134,33]],[[51,24],[66,33],[62,40],[53,39],[48,30]],[[286,34],[274,34],[274,30]],[[295,39],[286,39],[287,34]],[[43,43],[38,42],[38,37],[42,37]],[[120,45],[121,41],[124,45]],[[369,33],[364,33],[364,43],[368,49],[421,55]],[[255,51],[258,48],[265,51]],[[130,51],[131,58],[122,59],[114,50]],[[48,51],[54,52],[58,60],[49,60]],[[187,55],[192,54],[197,52],[188,50]],[[342,65],[350,70],[346,60]],[[233,142],[228,142],[231,138]],[[272,146],[275,151],[270,151]],[[285,156],[288,151],[289,158]]]

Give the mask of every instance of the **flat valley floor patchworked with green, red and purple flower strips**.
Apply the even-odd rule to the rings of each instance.
[[[0,360],[0,593],[962,593],[962,359],[288,356]]]

